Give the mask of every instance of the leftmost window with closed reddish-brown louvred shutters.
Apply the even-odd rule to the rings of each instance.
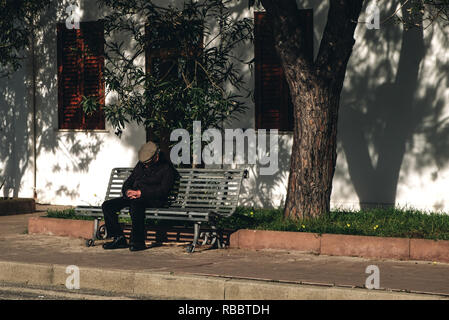
[[[81,22],[80,29],[58,31],[59,129],[104,129],[104,31],[101,21]],[[81,102],[90,99],[98,110],[86,114]]]

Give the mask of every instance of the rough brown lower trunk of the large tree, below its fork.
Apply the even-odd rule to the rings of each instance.
[[[291,94],[295,129],[285,215],[317,217],[330,209],[340,92],[317,84]]]

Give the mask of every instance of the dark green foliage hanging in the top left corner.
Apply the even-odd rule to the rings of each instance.
[[[0,78],[17,71],[31,44],[34,19],[51,0],[0,0]]]

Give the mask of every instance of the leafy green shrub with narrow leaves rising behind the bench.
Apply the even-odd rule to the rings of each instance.
[[[116,97],[105,115],[118,135],[130,121],[159,139],[173,129],[191,130],[194,120],[203,130],[221,128],[246,110],[241,98],[250,93],[239,68],[245,61],[235,49],[252,40],[253,23],[234,19],[229,1],[186,1],[181,8],[99,2],[110,12],[104,18],[105,82]],[[121,39],[131,39],[131,53]],[[146,49],[149,72],[139,65]]]

